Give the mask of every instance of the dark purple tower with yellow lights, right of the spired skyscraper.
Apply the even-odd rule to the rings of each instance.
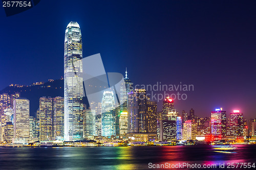
[[[146,132],[146,90],[135,89],[128,101],[128,133]]]

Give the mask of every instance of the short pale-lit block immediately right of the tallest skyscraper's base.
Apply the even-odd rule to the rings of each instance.
[[[95,131],[95,110],[83,110],[83,138],[96,135]]]

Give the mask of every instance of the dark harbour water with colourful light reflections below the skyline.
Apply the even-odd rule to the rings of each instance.
[[[186,162],[217,165],[255,162],[255,145],[236,145],[236,147],[238,148],[232,153],[215,152],[216,150],[211,145],[0,148],[0,165],[1,169],[149,169],[148,163],[150,162],[153,164]]]

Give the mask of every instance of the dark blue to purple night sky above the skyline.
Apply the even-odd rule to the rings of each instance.
[[[175,101],[179,112],[210,116],[222,107],[255,118],[255,8],[256,1],[41,1],[6,17],[1,7],[0,89],[62,77],[65,30],[77,21],[83,57],[100,53],[106,72],[127,67],[134,84],[193,84],[180,92],[187,100]]]

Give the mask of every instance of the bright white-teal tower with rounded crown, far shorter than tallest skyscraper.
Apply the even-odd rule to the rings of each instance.
[[[111,136],[116,133],[115,97],[113,91],[104,91],[102,97],[101,135]]]

